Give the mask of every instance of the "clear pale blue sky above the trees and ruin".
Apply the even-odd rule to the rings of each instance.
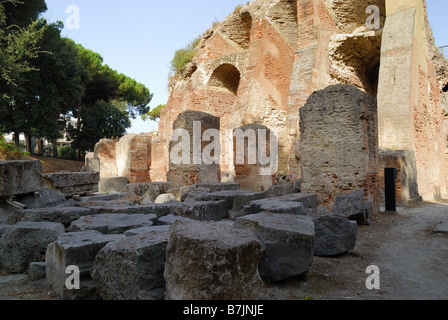
[[[46,0],[44,16],[66,24],[63,36],[101,54],[118,72],[154,93],[151,107],[168,100],[169,63],[177,49],[223,20],[242,0]],[[79,8],[79,28],[68,29],[69,6]],[[448,45],[448,0],[427,0],[436,45]],[[448,48],[446,49],[448,52]],[[447,54],[448,56],[448,54]],[[129,133],[156,131],[137,119]]]

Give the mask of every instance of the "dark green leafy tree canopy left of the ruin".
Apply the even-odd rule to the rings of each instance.
[[[100,54],[63,38],[62,22],[40,15],[45,0],[0,1],[0,131],[56,141],[69,118],[74,147],[119,138],[150,111],[145,85],[104,64]]]

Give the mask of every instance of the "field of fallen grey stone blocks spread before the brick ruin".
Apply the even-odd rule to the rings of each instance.
[[[371,212],[362,190],[319,214],[317,195],[297,193],[294,184],[252,192],[205,183],[176,193],[170,183],[150,182],[74,197],[42,188],[49,176],[38,161],[0,162],[0,169],[26,176],[22,189],[13,189],[16,179],[4,183],[22,207],[0,203],[0,272],[46,279],[69,300],[265,298],[266,283],[303,277],[314,256],[353,250],[358,223]],[[51,181],[66,186],[89,175]],[[75,270],[76,290],[67,285]]]

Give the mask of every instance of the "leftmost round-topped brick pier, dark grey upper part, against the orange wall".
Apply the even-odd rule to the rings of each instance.
[[[208,131],[209,129],[213,131]],[[218,136],[209,139],[204,136],[207,131],[218,135],[219,130],[220,118],[211,114],[198,111],[179,114],[173,123],[173,135],[169,144],[170,163],[167,179],[173,188],[221,182],[221,141]],[[212,143],[217,147],[211,148]],[[217,161],[210,163],[204,154],[216,156]],[[180,158],[185,161],[180,163]]]

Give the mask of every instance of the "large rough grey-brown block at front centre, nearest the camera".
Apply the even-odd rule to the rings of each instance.
[[[165,266],[167,300],[260,298],[260,241],[249,230],[213,222],[171,227]]]

